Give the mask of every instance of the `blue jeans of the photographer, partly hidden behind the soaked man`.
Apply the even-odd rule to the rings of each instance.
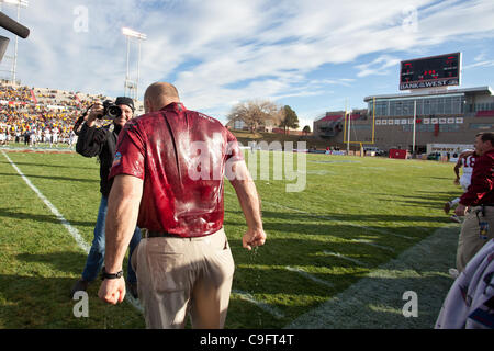
[[[86,261],[86,267],[82,272],[82,279],[88,282],[92,282],[98,278],[101,268],[104,263],[104,224],[106,219],[108,212],[108,197],[101,196],[100,210],[98,211],[98,219],[94,227],[94,239],[92,240],[91,249],[89,250],[88,259]],[[134,249],[141,241],[141,229],[135,227],[134,235],[131,239],[130,249],[131,254],[128,257],[127,264],[127,282],[136,283],[137,278],[131,265],[131,257]]]

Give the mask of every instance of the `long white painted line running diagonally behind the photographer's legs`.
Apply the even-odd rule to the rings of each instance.
[[[81,248],[86,253],[89,253],[89,250],[91,248],[90,245],[88,245],[88,242],[86,242],[86,240],[81,237],[81,235],[79,234],[79,230],[77,230],[75,227],[71,226],[71,224],[65,219],[65,217],[61,215],[61,213],[57,210],[57,207],[55,207],[48,199],[46,199],[45,195],[43,195],[43,193],[33,185],[33,183],[27,179],[27,177],[24,176],[24,173],[22,173],[22,171],[19,169],[19,167],[10,159],[9,156],[7,156],[7,154],[1,150],[3,156],[7,158],[7,160],[10,162],[10,165],[13,167],[13,169],[19,173],[19,176],[21,176],[21,178],[24,180],[24,182],[36,193],[36,195],[44,202],[44,204],[49,208],[49,211],[52,211],[52,213],[57,217],[57,219],[64,225],[64,227],[68,230],[68,233],[72,236],[72,238],[76,240],[77,245],[79,246],[79,248]],[[127,299],[127,302],[134,306],[137,310],[139,312],[144,312],[143,307],[141,306],[141,304],[138,303],[138,301],[136,301],[135,298],[133,298],[132,296],[130,296],[130,294],[125,294],[125,298]]]

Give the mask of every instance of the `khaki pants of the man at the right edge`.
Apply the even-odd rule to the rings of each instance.
[[[486,206],[485,217],[482,213],[479,213],[479,219],[489,223],[487,239],[481,239],[479,219],[476,218],[476,210],[480,206],[475,206],[464,217],[463,225],[461,226],[460,239],[458,241],[457,251],[457,269],[462,272],[467,267],[467,263],[475,256],[476,252],[487,242],[494,238],[494,207]]]

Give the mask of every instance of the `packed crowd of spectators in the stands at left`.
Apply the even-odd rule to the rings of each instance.
[[[102,95],[79,98],[77,93],[27,87],[0,86],[0,145],[38,143],[75,145],[74,124]]]

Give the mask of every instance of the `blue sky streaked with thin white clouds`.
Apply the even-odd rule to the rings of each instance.
[[[401,60],[454,52],[462,87],[494,86],[492,0],[31,0],[20,22],[31,30],[19,41],[23,84],[123,94],[127,26],[147,35],[141,98],[170,81],[186,106],[222,122],[235,103],[268,99],[312,127],[346,101],[398,92]],[[0,31],[12,55],[14,36]],[[131,53],[135,72],[136,44]]]

